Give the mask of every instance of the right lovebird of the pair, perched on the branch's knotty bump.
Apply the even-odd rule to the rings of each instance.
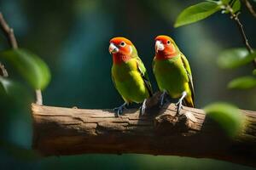
[[[155,37],[155,56],[153,61],[154,77],[162,92],[160,105],[165,95],[178,99],[177,114],[183,105],[195,107],[195,92],[189,61],[168,36]]]

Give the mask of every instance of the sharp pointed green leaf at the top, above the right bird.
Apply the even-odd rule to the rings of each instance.
[[[203,20],[220,9],[221,8],[218,6],[217,2],[197,3],[189,8],[185,8],[183,12],[177,16],[174,27],[184,26],[198,20]]]

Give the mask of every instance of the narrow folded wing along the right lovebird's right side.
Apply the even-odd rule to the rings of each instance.
[[[189,66],[189,61],[185,57],[185,55],[182,54],[182,53],[181,53],[181,59],[183,61],[184,68],[187,71],[187,75],[188,75],[188,78],[189,78],[189,88],[190,88],[190,91],[191,91],[191,99],[188,99],[188,98],[186,99],[185,98],[184,104],[187,105],[187,106],[195,107],[195,90],[194,90],[194,85],[193,85],[192,73],[191,73],[191,69],[190,69],[190,66]]]

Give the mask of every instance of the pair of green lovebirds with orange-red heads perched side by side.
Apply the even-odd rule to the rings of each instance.
[[[194,87],[189,62],[177,48],[171,37],[155,37],[155,56],[153,61],[154,77],[162,92],[160,105],[164,105],[166,94],[178,99],[177,113],[182,105],[195,107]],[[125,37],[110,40],[109,53],[113,56],[112,79],[115,88],[125,100],[123,105],[115,108],[119,116],[132,102],[143,103],[141,114],[146,109],[146,101],[153,95],[148,74],[137,49]]]

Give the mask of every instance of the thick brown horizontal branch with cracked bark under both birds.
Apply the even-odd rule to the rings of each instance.
[[[256,167],[256,112],[242,111],[247,126],[235,139],[204,111],[175,105],[146,111],[126,110],[115,117],[110,110],[61,108],[32,104],[33,148],[44,156],[85,153],[150,154],[212,158]]]

